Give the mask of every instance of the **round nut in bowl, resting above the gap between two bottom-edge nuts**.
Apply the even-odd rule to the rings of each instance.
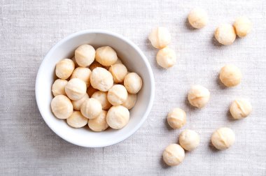
[[[95,98],[87,98],[80,107],[82,115],[87,119],[94,119],[102,112],[101,103]]]

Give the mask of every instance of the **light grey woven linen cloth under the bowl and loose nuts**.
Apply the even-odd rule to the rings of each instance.
[[[191,29],[186,16],[202,7],[209,24]],[[223,47],[214,41],[218,24],[247,15],[253,29]],[[0,175],[266,175],[266,1],[13,1],[0,2]],[[156,26],[172,34],[179,53],[169,70],[156,65],[157,50],[147,36]],[[78,147],[59,138],[43,121],[35,101],[38,66],[50,48],[83,29],[106,29],[123,34],[146,54],[155,75],[155,101],[141,129],[111,147]],[[224,88],[218,71],[236,64],[244,75],[241,85]],[[186,103],[191,85],[211,91],[206,108]],[[232,121],[228,106],[236,97],[251,100],[250,117]],[[169,129],[166,115],[174,107],[186,110],[183,129],[201,136],[200,147],[186,153],[180,166],[169,168],[162,151],[183,130]],[[217,152],[211,133],[228,126],[236,133],[230,149]]]

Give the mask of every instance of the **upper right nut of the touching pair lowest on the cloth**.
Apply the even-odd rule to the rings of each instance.
[[[179,144],[183,149],[191,151],[200,145],[200,135],[193,130],[186,129],[179,135]]]

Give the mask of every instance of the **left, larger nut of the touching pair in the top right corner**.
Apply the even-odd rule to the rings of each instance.
[[[236,38],[235,29],[231,24],[221,24],[218,28],[216,28],[214,36],[218,43],[231,45],[234,43]]]

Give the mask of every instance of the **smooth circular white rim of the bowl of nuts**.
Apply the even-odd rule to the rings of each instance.
[[[38,96],[40,94],[40,92],[38,91],[38,85],[39,82],[41,81],[40,80],[40,75],[41,75],[41,70],[43,70],[43,62],[48,59],[48,57],[50,57],[50,54],[54,51],[54,50],[57,50],[57,47],[59,47],[59,45],[62,45],[62,43],[66,42],[66,41],[69,41],[71,38],[75,38],[76,36],[80,36],[80,35],[83,35],[83,34],[107,34],[109,36],[114,36],[116,38],[119,38],[120,40],[122,41],[125,41],[126,43],[128,43],[131,47],[134,48],[134,50],[136,50],[141,58],[144,60],[144,63],[146,65],[146,67],[148,68],[148,75],[149,75],[149,78],[151,80],[151,97],[150,97],[150,100],[148,101],[148,107],[146,108],[146,112],[144,113],[143,117],[141,118],[140,122],[134,126],[133,129],[131,129],[129,131],[129,133],[127,133],[126,135],[123,135],[122,138],[118,138],[118,140],[110,140],[110,142],[107,144],[107,145],[85,145],[83,143],[78,143],[78,142],[74,142],[73,140],[71,140],[71,138],[67,138],[65,135],[62,135],[60,133],[57,133],[56,130],[55,130],[55,127],[52,126],[52,124],[50,124],[48,118],[46,118],[44,116],[44,111],[43,109],[40,107],[41,105],[41,99],[40,97]],[[73,33],[73,34],[70,34],[69,36],[66,36],[65,38],[63,38],[61,41],[59,41],[58,43],[56,43],[48,52],[47,54],[45,54],[45,57],[43,58],[43,60],[41,61],[41,64],[38,68],[38,73],[36,75],[36,83],[35,83],[35,97],[36,97],[36,103],[37,103],[37,106],[38,106],[38,110],[39,112],[41,113],[41,117],[43,117],[43,120],[45,121],[45,123],[49,126],[49,128],[54,132],[56,133],[60,138],[66,140],[67,142],[70,142],[74,145],[78,145],[78,146],[81,146],[81,147],[93,147],[93,148],[97,148],[97,147],[107,147],[107,146],[110,146],[110,145],[115,145],[119,142],[122,142],[123,140],[129,138],[131,135],[133,135],[141,126],[142,124],[144,124],[145,120],[147,119],[149,113],[151,112],[151,108],[153,106],[153,101],[154,101],[154,97],[155,97],[155,80],[154,80],[154,75],[153,75],[153,71],[152,71],[152,68],[151,68],[151,65],[149,64],[148,62],[148,59],[146,58],[146,56],[144,55],[144,53],[140,50],[140,48],[134,44],[132,41],[130,41],[129,39],[125,38],[124,36],[120,35],[120,34],[116,34],[115,32],[112,32],[112,31],[106,31],[106,30],[102,30],[102,29],[87,29],[87,30],[83,30],[83,31],[78,31],[76,33]]]

